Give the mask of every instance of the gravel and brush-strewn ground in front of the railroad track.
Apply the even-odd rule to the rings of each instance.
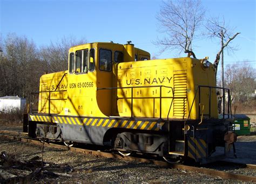
[[[2,160],[2,163],[0,159],[0,183],[1,180],[11,183],[24,181],[25,183],[235,182],[235,180],[225,180],[198,172],[161,168],[152,163],[107,159],[49,147],[43,149],[42,146],[5,138],[0,138],[0,145],[0,152],[5,151],[7,157],[11,158],[11,161]],[[24,166],[26,167],[24,168]],[[27,177],[28,175],[23,176],[26,173],[30,173],[30,175],[32,173],[32,176],[30,178]],[[26,177],[25,180],[24,177]]]

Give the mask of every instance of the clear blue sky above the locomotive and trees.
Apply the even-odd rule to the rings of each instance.
[[[0,0],[0,32],[2,38],[10,32],[33,39],[37,46],[56,42],[64,36],[88,42],[125,44],[127,40],[158,58],[177,57],[177,52],[159,53],[152,41],[161,37],[156,15],[161,1],[157,0]],[[254,0],[203,0],[206,17],[225,17],[226,22],[241,34],[233,40],[239,50],[225,52],[224,63],[232,64],[244,60],[256,67],[256,1]],[[214,61],[218,52],[217,40],[202,38],[195,40],[194,52],[198,58],[209,56]],[[181,53],[181,56],[186,56]]]

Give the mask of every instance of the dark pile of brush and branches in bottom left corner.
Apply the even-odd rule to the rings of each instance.
[[[24,160],[7,155],[5,151],[0,155],[0,183],[27,183],[41,179],[72,177],[72,171],[70,166],[46,163],[39,156]]]

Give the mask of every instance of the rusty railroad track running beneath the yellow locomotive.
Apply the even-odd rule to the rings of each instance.
[[[22,138],[21,137],[22,135],[27,135],[27,134],[26,133],[21,133],[21,132],[15,132],[15,131],[6,131],[6,130],[1,131],[0,130],[0,137],[2,137],[2,138],[7,138],[7,139],[10,139],[10,140],[18,140],[18,141],[22,141],[22,142],[29,142],[29,143],[34,144],[34,145],[42,146],[41,141],[33,140],[33,139],[29,139],[29,138]],[[228,172],[224,172],[224,171],[217,171],[215,169],[210,169],[210,168],[202,168],[202,167],[199,168],[199,167],[194,167],[194,166],[173,164],[173,163],[167,163],[167,162],[164,162],[164,161],[151,160],[151,159],[145,159],[145,158],[137,158],[137,157],[133,157],[133,156],[125,156],[124,157],[124,156],[121,156],[121,155],[115,154],[115,153],[100,152],[100,151],[94,151],[94,150],[84,149],[84,148],[67,147],[67,146],[64,146],[64,145],[58,145],[58,144],[52,144],[52,143],[45,143],[44,146],[52,147],[52,148],[58,148],[58,149],[64,149],[64,150],[70,150],[71,152],[91,154],[91,155],[95,155],[95,156],[104,156],[105,158],[116,158],[116,159],[130,160],[130,161],[150,162],[150,163],[154,163],[155,165],[158,165],[158,166],[161,166],[161,167],[185,169],[187,171],[197,171],[197,172],[207,174],[207,175],[211,175],[211,176],[218,176],[218,177],[223,178],[223,179],[240,180],[240,181],[245,181],[245,182],[256,182],[256,176],[228,173]],[[224,162],[224,161],[222,161],[222,162]],[[256,169],[256,165],[233,163],[233,162],[226,162],[226,163],[227,164],[240,165],[243,168]]]

